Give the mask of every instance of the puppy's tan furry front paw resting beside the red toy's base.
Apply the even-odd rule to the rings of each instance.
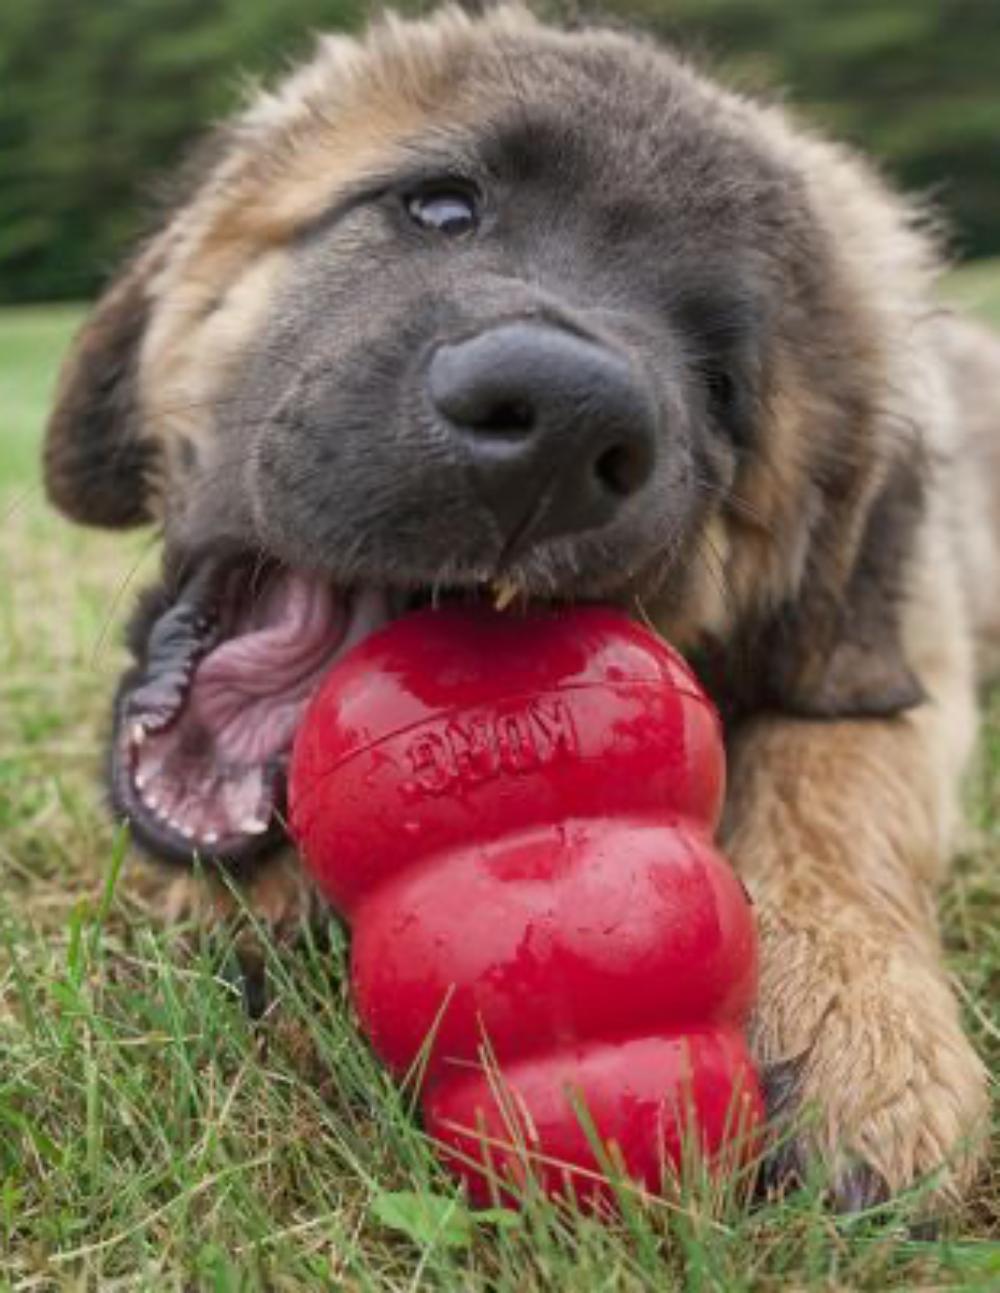
[[[928,1181],[928,1205],[956,1202],[982,1149],[986,1072],[935,949],[780,917],[761,932],[765,1187],[820,1179],[856,1212]]]

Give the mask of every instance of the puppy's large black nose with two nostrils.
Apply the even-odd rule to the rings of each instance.
[[[652,400],[596,341],[505,323],[439,347],[428,387],[508,540],[607,525],[652,473]]]

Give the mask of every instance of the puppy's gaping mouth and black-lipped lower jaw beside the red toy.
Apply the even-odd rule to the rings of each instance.
[[[136,840],[164,861],[241,870],[278,847],[291,745],[330,667],[382,626],[442,600],[517,613],[546,601],[470,573],[448,587],[398,581],[338,587],[327,575],[248,557],[202,560],[153,619],[122,683],[111,798]]]

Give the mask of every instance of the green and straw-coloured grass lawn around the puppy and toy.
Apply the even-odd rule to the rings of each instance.
[[[1000,321],[1000,265],[956,297]],[[223,935],[162,930],[101,807],[107,701],[147,535],[44,507],[39,429],[72,308],[0,313],[0,1289],[1000,1287],[1000,1161],[937,1237],[915,1202],[834,1219],[692,1191],[594,1221],[467,1212],[358,1040],[344,943],[266,948],[243,1009]],[[1000,1072],[1000,702],[944,895],[968,1025]],[[119,874],[120,873],[120,874]]]

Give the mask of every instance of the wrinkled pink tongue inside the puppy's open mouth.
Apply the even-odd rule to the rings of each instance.
[[[291,745],[303,707],[332,661],[388,621],[383,593],[348,609],[326,581],[290,573],[250,609],[246,631],[198,666],[185,721],[212,734],[217,755],[261,764]]]

